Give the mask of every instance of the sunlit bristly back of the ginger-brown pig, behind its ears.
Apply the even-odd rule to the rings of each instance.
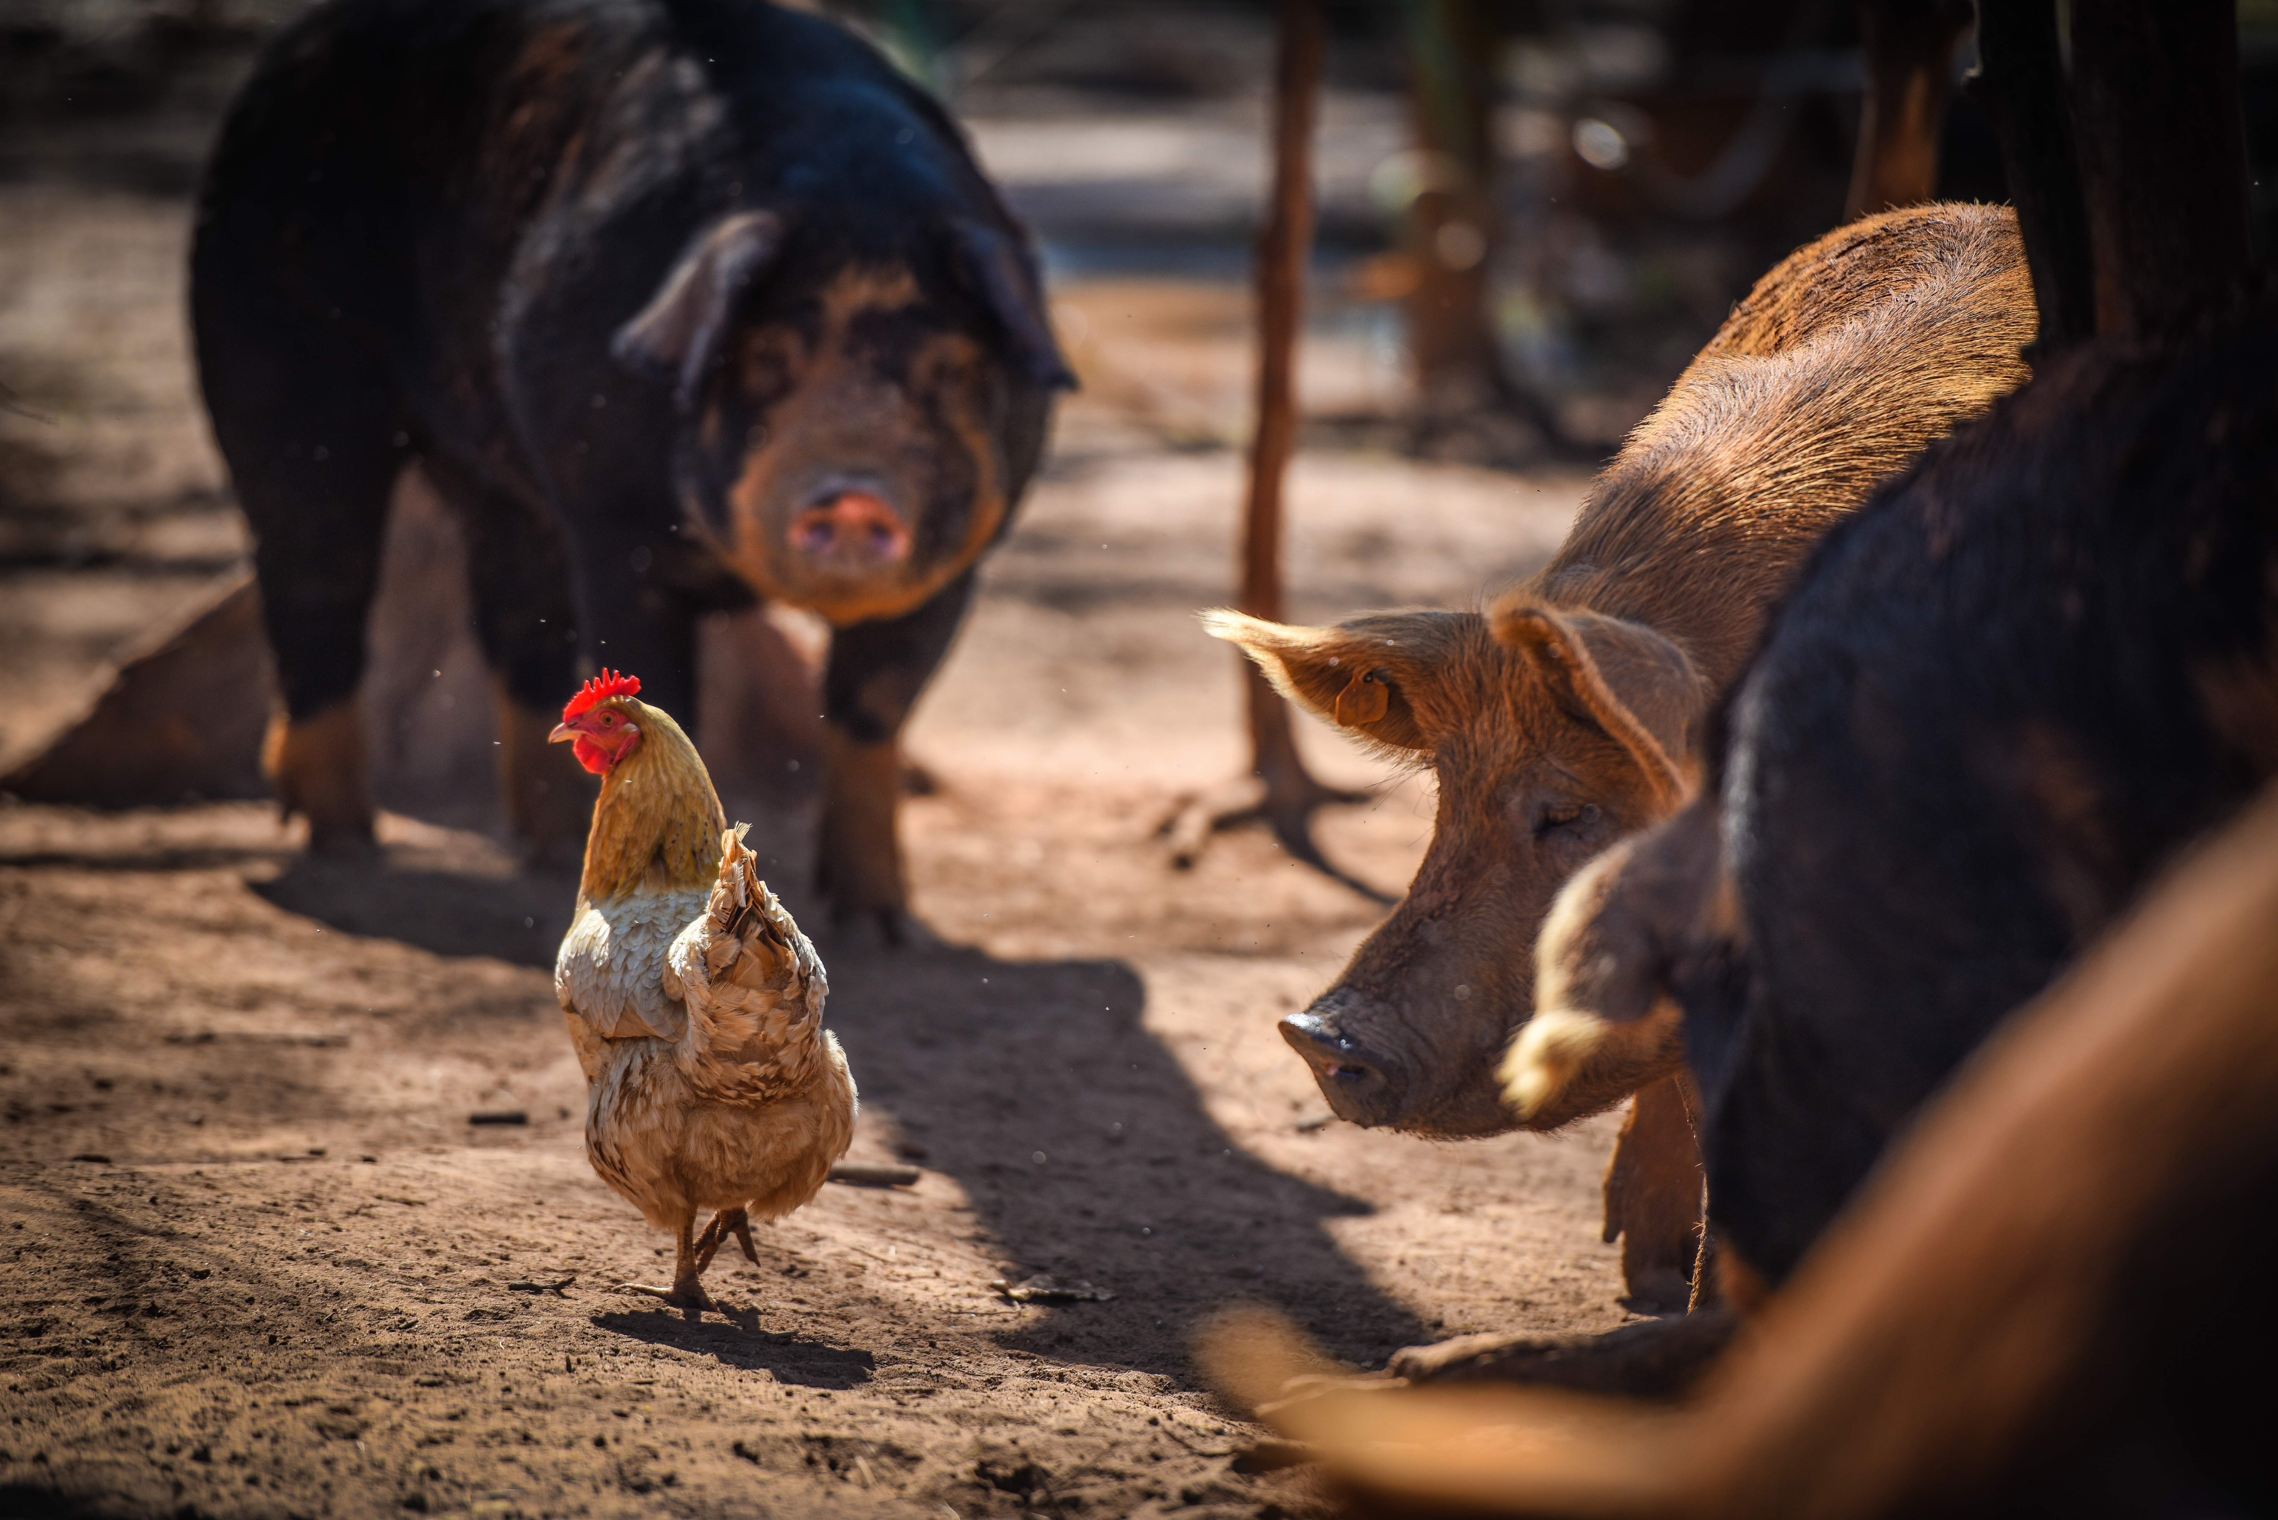
[[[1529,590],[1658,629],[1722,693],[1820,536],[2025,381],[2034,326],[2005,207],[1836,228],[1734,308]]]

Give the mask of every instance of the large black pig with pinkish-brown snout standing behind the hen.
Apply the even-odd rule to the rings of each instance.
[[[911,930],[898,734],[1071,376],[1021,228],[875,50],[738,0],[319,5],[223,125],[191,321],[312,848],[371,841],[353,697],[417,460],[533,850],[585,834],[544,745],[581,659],[690,716],[695,620],[775,599],[834,629],[829,907]]]

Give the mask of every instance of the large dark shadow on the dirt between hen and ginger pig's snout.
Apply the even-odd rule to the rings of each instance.
[[[1324,1228],[1369,1206],[1244,1151],[1144,1010],[1139,975],[1107,959],[831,966],[827,1019],[866,1121],[964,1185],[1016,1281],[1043,1272],[1114,1294],[1046,1308],[1007,1345],[1185,1376],[1196,1319],[1244,1299],[1362,1365],[1421,1340]]]

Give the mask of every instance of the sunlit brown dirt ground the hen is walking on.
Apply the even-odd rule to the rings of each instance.
[[[7,763],[244,533],[182,351],[187,207],[0,187],[0,365],[41,412],[0,415]],[[729,1319],[686,1324],[615,1288],[667,1262],[583,1158],[567,877],[396,816],[342,868],[253,802],[0,804],[0,1511],[1308,1513],[1305,1470],[1235,1468],[1255,1431],[1189,1358],[1212,1310],[1280,1306],[1355,1367],[1626,1317],[1611,1121],[1333,1123],[1273,1021],[1380,909],[1262,834],[1169,866],[1157,823],[1244,757],[1235,656],[1191,622],[1232,577],[1239,458],[1164,399],[1239,397],[1239,301],[1059,299],[1091,390],[911,734],[916,907],[952,948],[825,943],[854,1158],[918,1185],[827,1187],[761,1267],[715,1265]],[[1308,453],[1298,615],[1476,599],[1579,490]],[[1396,891],[1428,779],[1303,743],[1374,798],[1328,852]],[[1112,1297],[991,1290],[1036,1272]]]

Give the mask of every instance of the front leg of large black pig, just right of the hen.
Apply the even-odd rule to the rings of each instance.
[[[909,918],[895,830],[902,722],[948,654],[970,602],[968,570],[907,618],[838,629],[822,672],[829,732],[816,884],[829,898],[836,925],[868,921],[891,943],[923,934]]]

